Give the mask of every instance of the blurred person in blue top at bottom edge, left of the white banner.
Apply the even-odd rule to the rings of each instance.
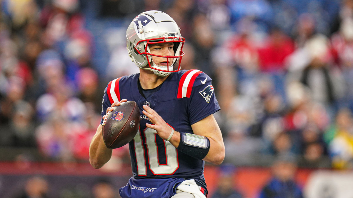
[[[294,156],[281,154],[272,165],[273,177],[262,188],[260,198],[303,198],[295,182],[297,162]]]

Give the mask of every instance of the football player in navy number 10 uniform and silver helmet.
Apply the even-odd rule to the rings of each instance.
[[[127,51],[140,73],[108,83],[102,120],[113,106],[133,100],[140,109],[140,129],[129,143],[133,177],[120,196],[198,198],[207,196],[204,161],[219,165],[225,156],[213,113],[220,110],[212,79],[196,70],[180,70],[185,38],[173,18],[147,11],[126,31]],[[109,161],[102,122],[90,145],[90,163]]]

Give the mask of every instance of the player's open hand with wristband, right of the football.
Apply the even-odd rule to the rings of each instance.
[[[146,126],[148,128],[154,129],[157,131],[158,135],[163,139],[166,140],[170,133],[172,132],[172,128],[166,123],[166,121],[163,120],[163,118],[158,115],[158,113],[151,109],[147,105],[143,105],[144,111],[143,114],[146,115],[148,118],[150,118],[151,123],[153,124],[148,124],[146,123]]]

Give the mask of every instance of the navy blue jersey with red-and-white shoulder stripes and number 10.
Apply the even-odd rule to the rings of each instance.
[[[212,79],[196,69],[181,70],[170,74],[148,98],[139,93],[138,79],[139,74],[133,74],[110,81],[102,101],[102,116],[121,99],[136,101],[140,109],[140,129],[129,143],[133,176],[203,180],[204,161],[178,151],[154,129],[147,128],[146,123],[151,122],[142,113],[142,106],[149,105],[175,131],[193,133],[192,124],[220,110]]]

